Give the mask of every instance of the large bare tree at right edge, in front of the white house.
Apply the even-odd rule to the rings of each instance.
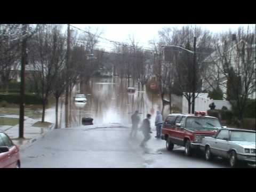
[[[243,126],[247,100],[255,94],[255,26],[220,34],[215,39],[215,52],[209,59],[213,69],[220,71],[215,78],[221,79],[227,99],[238,110],[238,119]],[[219,84],[209,81],[211,86],[214,83]]]

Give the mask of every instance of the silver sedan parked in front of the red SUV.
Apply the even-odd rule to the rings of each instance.
[[[204,138],[200,149],[205,152],[205,159],[213,156],[229,159],[231,167],[238,162],[255,164],[255,131],[223,128],[213,137]]]

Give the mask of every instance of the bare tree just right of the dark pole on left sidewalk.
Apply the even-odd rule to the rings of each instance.
[[[63,37],[60,34],[60,26],[45,25],[31,38],[29,42],[29,63],[34,71],[33,81],[37,94],[42,99],[43,113],[42,122],[45,117],[45,107],[49,96],[54,90],[54,81],[63,63]]]

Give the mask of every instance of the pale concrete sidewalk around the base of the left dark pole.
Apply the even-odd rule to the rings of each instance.
[[[19,118],[19,115],[1,115],[1,117],[8,118]],[[19,139],[19,124],[10,125],[0,125],[0,132],[6,133],[13,141],[13,143],[19,148],[24,148],[27,144],[36,141],[37,139],[43,137],[43,135],[54,127],[52,124],[49,127],[37,127],[33,126],[38,119],[32,119],[27,116],[24,118],[24,137],[25,139]]]

